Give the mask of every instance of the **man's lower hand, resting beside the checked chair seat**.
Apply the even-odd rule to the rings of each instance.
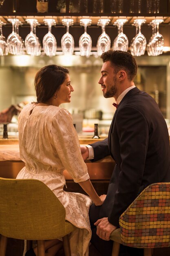
[[[110,240],[110,234],[113,232],[113,230],[117,229],[117,227],[113,226],[108,221],[108,218],[99,219],[94,223],[94,225],[97,226],[97,236],[106,241]]]

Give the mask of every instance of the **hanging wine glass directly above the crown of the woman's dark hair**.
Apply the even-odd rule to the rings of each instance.
[[[49,32],[44,36],[42,43],[44,52],[47,56],[55,56],[57,51],[57,41],[55,36],[51,33],[51,27],[56,24],[54,19],[44,19],[45,25],[48,25]]]

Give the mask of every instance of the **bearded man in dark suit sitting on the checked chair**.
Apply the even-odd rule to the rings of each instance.
[[[115,98],[117,110],[108,139],[81,150],[84,159],[97,161],[111,155],[115,160],[106,200],[101,207],[93,204],[89,212],[91,242],[103,256],[109,256],[112,243],[108,240],[119,227],[120,215],[149,184],[170,181],[170,144],[157,103],[135,87],[135,58],[122,51],[108,51],[101,58],[99,84],[105,98]]]

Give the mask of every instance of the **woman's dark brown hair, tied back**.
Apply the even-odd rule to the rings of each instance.
[[[45,103],[55,92],[57,92],[64,80],[68,69],[57,65],[48,65],[42,67],[35,75],[35,90],[37,95],[37,102]]]

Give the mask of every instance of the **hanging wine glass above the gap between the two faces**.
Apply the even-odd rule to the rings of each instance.
[[[91,46],[92,46],[92,40],[91,36],[87,34],[87,26],[91,25],[91,19],[81,19],[80,25],[84,26],[84,34],[80,36],[79,38],[79,49],[81,56],[90,56],[91,54]]]

